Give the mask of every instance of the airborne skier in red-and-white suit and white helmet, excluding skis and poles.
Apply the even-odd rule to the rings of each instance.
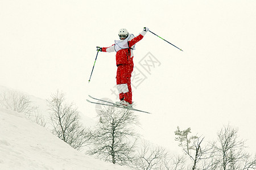
[[[133,72],[133,50],[135,44],[142,40],[148,31],[147,27],[143,28],[143,31],[136,37],[133,34],[129,34],[127,29],[122,28],[118,32],[120,40],[115,40],[115,43],[109,47],[97,46],[96,50],[100,52],[117,52],[115,54],[115,60],[117,65],[117,90],[119,92],[120,101],[118,104],[132,107],[132,92],[131,92],[131,73]]]

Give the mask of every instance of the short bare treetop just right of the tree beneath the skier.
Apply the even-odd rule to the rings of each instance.
[[[167,154],[165,148],[143,141],[141,150],[138,151],[138,156],[133,162],[133,168],[137,170],[166,169]]]

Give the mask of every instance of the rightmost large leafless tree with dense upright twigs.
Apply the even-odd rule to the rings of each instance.
[[[215,161],[220,169],[252,169],[256,160],[245,152],[245,141],[238,139],[238,129],[224,126],[218,133]]]

